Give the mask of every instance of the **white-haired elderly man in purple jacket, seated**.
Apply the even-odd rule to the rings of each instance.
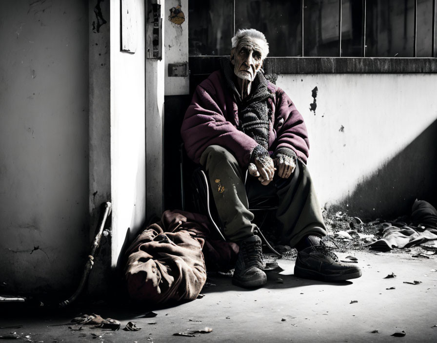
[[[358,278],[360,269],[339,263],[321,241],[326,229],[306,167],[306,127],[290,98],[260,72],[268,53],[261,32],[238,30],[230,59],[197,87],[181,128],[188,156],[208,173],[224,233],[239,245],[233,283],[255,287],[267,280],[248,210],[248,197],[259,194],[278,196],[281,238],[298,249],[296,276]],[[247,169],[252,177],[245,185]]]

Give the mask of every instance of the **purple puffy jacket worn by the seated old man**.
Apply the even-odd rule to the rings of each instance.
[[[289,148],[306,163],[309,141],[302,115],[282,89],[270,82],[267,87],[274,94],[274,100],[269,98],[274,113],[274,122],[269,125],[269,153]],[[188,157],[196,163],[208,146],[220,145],[234,153],[241,167],[246,167],[258,145],[238,130],[238,107],[221,70],[212,73],[196,88],[180,133]]]

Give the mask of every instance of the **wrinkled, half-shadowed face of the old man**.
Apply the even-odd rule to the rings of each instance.
[[[231,51],[231,63],[237,77],[253,81],[261,69],[263,54],[263,41],[257,38],[243,37],[237,47]]]

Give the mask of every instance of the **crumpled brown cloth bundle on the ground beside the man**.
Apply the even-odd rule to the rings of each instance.
[[[165,211],[161,221],[145,229],[127,250],[125,280],[136,301],[162,304],[194,300],[206,282],[202,253],[215,269],[235,263],[238,246],[210,239],[206,217]]]

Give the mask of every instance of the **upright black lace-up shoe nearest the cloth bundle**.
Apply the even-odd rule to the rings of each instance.
[[[264,268],[261,239],[251,236],[239,245],[237,263],[232,283],[240,287],[259,287],[267,283]]]

